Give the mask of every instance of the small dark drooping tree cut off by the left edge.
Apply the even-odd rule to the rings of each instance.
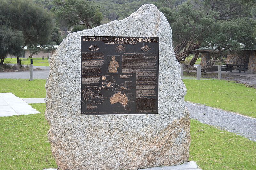
[[[5,26],[0,27],[0,65],[4,63],[5,57],[10,55],[21,55],[23,36],[21,31],[12,30]]]

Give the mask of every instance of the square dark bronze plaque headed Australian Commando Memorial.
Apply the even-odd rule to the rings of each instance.
[[[81,36],[82,114],[158,113],[159,37]]]

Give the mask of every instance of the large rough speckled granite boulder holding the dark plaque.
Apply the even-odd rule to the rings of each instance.
[[[100,108],[106,112],[112,109],[112,114],[87,114],[88,109],[93,110],[95,104],[86,105],[87,110],[84,112],[81,110],[81,105],[82,108],[85,107],[81,102],[81,93],[82,99],[86,99],[85,104],[87,99],[91,100],[90,97],[103,97],[96,92],[81,92],[81,36],[142,37],[143,40],[143,37],[159,37],[159,51],[155,48],[157,53],[159,52],[159,65],[156,60],[154,63],[158,68],[158,88],[155,88],[158,91],[158,104],[154,112],[149,112],[152,114],[137,114],[132,110],[127,114],[116,114],[116,108],[124,109],[131,103],[128,92],[125,92],[131,87],[121,85],[114,88],[114,91],[120,89],[115,96],[106,97],[104,101],[109,102],[111,108]],[[128,45],[116,45],[117,52],[129,50]],[[102,47],[95,45],[90,47],[92,52],[101,49]],[[141,50],[140,52],[148,54],[153,51],[153,47],[145,43]],[[109,75],[102,74],[99,79],[99,82],[102,81],[102,88],[106,87],[105,90],[113,84],[108,78],[112,76],[114,79],[114,75],[121,78],[120,75],[125,71],[124,61],[121,61],[122,55],[124,60],[124,53],[114,57],[110,54],[105,56],[109,60],[106,64],[109,66],[106,68],[106,74],[109,72]],[[158,58],[158,55],[155,56]],[[172,166],[188,161],[190,120],[184,105],[186,87],[173,53],[171,27],[156,6],[145,4],[121,21],[112,21],[89,30],[68,34],[49,62],[45,117],[50,124],[48,138],[52,154],[60,169],[140,169]],[[110,68],[111,65],[113,67]],[[149,68],[150,66],[151,63]],[[87,69],[86,65],[83,68]],[[99,72],[100,69],[93,70],[93,73]],[[122,78],[137,82],[139,79],[134,77],[135,74],[137,76],[138,73],[125,74]],[[86,75],[82,73],[82,77]],[[85,79],[84,83],[87,80]],[[84,85],[82,87],[84,88]],[[133,91],[131,90],[136,97],[138,89],[140,87],[136,84],[136,87],[133,85]],[[97,90],[100,93],[103,89]],[[96,104],[101,103],[100,100],[96,101]],[[145,102],[146,106],[147,104],[150,108],[151,105]],[[114,107],[115,105],[118,107]]]

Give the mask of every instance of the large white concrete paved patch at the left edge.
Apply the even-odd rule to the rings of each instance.
[[[0,93],[0,117],[40,113],[12,93]]]

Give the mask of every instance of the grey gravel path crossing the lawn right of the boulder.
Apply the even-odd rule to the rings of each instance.
[[[185,106],[190,112],[190,118],[256,142],[256,118],[191,102],[185,102]]]

